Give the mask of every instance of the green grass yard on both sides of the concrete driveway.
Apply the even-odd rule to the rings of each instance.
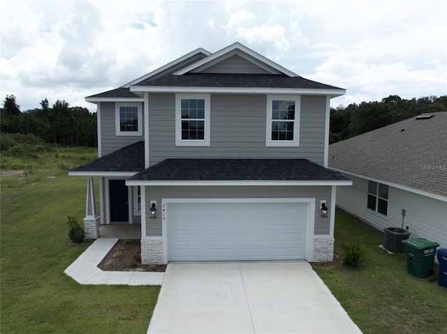
[[[146,333],[159,287],[80,285],[64,274],[89,246],[68,241],[67,216],[85,215],[86,182],[66,172],[94,152],[45,154],[57,167],[1,176],[1,332]],[[380,231],[337,211],[337,254],[358,236],[363,268],[314,270],[363,333],[447,333],[447,289],[407,274],[405,255],[378,247]]]

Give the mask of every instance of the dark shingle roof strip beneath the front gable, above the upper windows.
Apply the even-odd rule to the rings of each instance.
[[[321,84],[304,77],[270,74],[232,73],[189,73],[184,75],[164,75],[157,79],[146,79],[135,86],[186,86],[186,87],[255,87],[255,88],[295,88],[295,89],[340,89]]]

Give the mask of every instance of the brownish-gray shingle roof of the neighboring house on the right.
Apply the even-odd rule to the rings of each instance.
[[[328,161],[330,168],[352,175],[447,196],[447,112],[331,144]]]

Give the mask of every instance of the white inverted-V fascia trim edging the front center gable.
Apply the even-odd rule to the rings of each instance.
[[[182,68],[182,70],[179,70],[174,75],[184,75],[185,73],[191,72],[192,70],[195,70],[196,68],[199,68],[201,66],[205,66],[205,64],[210,63],[211,61],[214,61],[215,59],[219,59],[225,54],[229,52],[233,52],[234,50],[239,50],[242,53],[248,54],[252,58],[256,59],[257,61],[261,63],[265,63],[267,66],[270,66],[270,68],[274,68],[275,70],[279,71],[280,73],[284,73],[284,75],[288,75],[289,77],[298,77],[299,75],[293,73],[292,71],[280,66],[279,64],[275,63],[274,61],[271,61],[270,59],[265,58],[265,56],[262,56],[261,54],[258,54],[257,52],[254,52],[253,50],[249,49],[248,47],[240,44],[240,43],[233,43],[232,45],[229,45],[228,47],[223,48],[222,50],[215,52],[214,54],[210,54],[210,56],[207,56],[206,58],[197,61],[196,63],[191,64],[190,66],[186,66],[186,68]],[[248,60],[248,59],[247,59]],[[252,60],[251,60],[252,61]]]

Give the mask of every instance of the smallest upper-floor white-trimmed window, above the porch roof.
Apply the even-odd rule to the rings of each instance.
[[[142,136],[141,103],[115,103],[117,136]]]

